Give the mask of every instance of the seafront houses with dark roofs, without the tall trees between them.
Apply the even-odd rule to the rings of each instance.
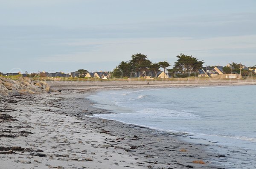
[[[229,67],[230,71],[225,72],[224,67]],[[247,77],[249,75],[256,75],[256,68],[252,67],[246,67],[246,66],[241,66],[241,72],[244,70],[246,71],[245,73],[237,73],[234,71],[234,69],[228,64],[227,66],[205,66],[202,67],[201,69],[198,69],[197,72],[195,72],[194,76],[196,77],[209,77],[209,78],[221,78],[221,79],[241,79],[243,77]],[[239,72],[240,72],[239,70]],[[233,72],[234,71],[234,72]],[[12,76],[20,76],[20,77],[40,77],[40,78],[49,78],[52,80],[59,80],[61,78],[85,78],[85,79],[90,79],[90,78],[97,78],[97,79],[103,79],[103,80],[108,80],[110,78],[116,78],[112,76],[113,72],[88,72],[84,70],[84,72],[81,71],[76,71],[76,72],[70,72],[70,73],[64,73],[64,72],[55,72],[55,73],[49,73],[49,72],[39,72],[39,73],[20,73],[20,72],[15,72],[15,73],[1,73],[0,76],[4,77],[12,77]],[[155,78],[179,78],[179,73],[173,74],[171,72],[166,72],[164,71],[158,71],[155,73],[154,71],[146,71],[143,72],[142,74],[140,72],[131,72],[129,77],[122,77],[122,78],[145,78],[145,79],[155,79]]]

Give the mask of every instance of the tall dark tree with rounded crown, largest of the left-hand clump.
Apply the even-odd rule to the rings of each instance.
[[[128,63],[131,63],[131,67],[140,72],[140,76],[142,76],[143,72],[146,73],[151,65],[151,61],[148,60],[148,57],[141,53],[133,54]]]

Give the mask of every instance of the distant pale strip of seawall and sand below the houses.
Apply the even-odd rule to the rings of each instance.
[[[137,88],[137,87],[181,87],[181,86],[242,86],[256,85],[256,80],[173,80],[173,81],[47,81],[51,89],[98,89],[98,88]],[[149,83],[149,84],[147,84]]]

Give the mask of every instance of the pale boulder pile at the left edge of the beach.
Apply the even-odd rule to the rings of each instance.
[[[31,81],[29,77],[12,80],[0,77],[0,96],[26,95],[49,92],[50,86],[44,81]]]

